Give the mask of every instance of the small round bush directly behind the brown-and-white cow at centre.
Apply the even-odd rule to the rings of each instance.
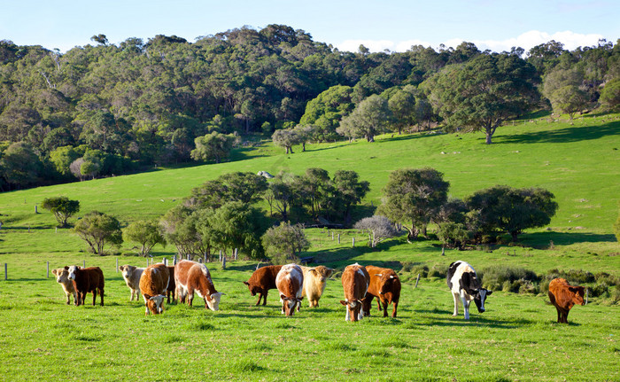
[[[265,254],[276,264],[285,264],[298,259],[298,253],[310,248],[310,242],[301,224],[281,222],[271,227],[261,238]]]

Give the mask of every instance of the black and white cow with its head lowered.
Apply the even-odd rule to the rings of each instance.
[[[492,291],[484,289],[480,285],[480,280],[476,275],[476,270],[465,261],[454,261],[448,269],[448,288],[452,291],[454,299],[454,313],[452,316],[459,315],[459,299],[463,303],[465,319],[469,320],[469,302],[474,300],[478,312],[484,312],[484,300]]]

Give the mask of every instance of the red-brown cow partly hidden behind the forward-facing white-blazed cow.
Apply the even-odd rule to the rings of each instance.
[[[372,300],[376,297],[376,303],[379,311],[384,311],[384,317],[387,317],[387,307],[390,303],[394,303],[394,309],[391,312],[392,317],[396,317],[396,309],[399,306],[400,299],[400,279],[394,270],[389,268],[379,268],[367,265],[366,270],[370,276],[370,284],[366,299],[364,299],[364,316],[370,316],[370,308]],[[381,308],[383,304],[384,308]]]

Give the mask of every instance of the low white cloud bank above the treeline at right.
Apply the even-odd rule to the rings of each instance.
[[[564,49],[572,51],[579,46],[596,46],[599,40],[603,38],[603,35],[597,34],[578,34],[571,31],[556,32],[552,35],[546,32],[540,32],[538,30],[531,30],[525,32],[522,35],[508,38],[506,40],[468,40],[462,38],[453,38],[444,42],[446,47],[455,48],[463,41],[469,43],[475,43],[480,51],[510,51],[513,46],[521,47],[525,51],[529,51],[536,45],[541,43],[547,43],[551,40],[555,40],[564,44]],[[425,47],[432,46],[437,49],[438,44],[422,41],[422,40],[404,40],[404,41],[391,41],[391,40],[346,40],[343,43],[336,44],[340,51],[358,51],[360,44],[363,44],[370,51],[384,51],[386,49],[390,51],[407,51],[412,45],[422,45]]]

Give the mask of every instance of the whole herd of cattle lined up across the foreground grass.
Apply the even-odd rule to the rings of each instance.
[[[174,266],[153,264],[147,268],[131,265],[119,267],[129,289],[129,300],[138,300],[143,295],[145,315],[157,315],[164,311],[164,300],[170,303],[174,297],[181,303],[187,300],[192,305],[194,293],[205,300],[205,308],[218,310],[222,292],[217,292],[205,264],[183,260]],[[302,267],[297,264],[269,265],[257,269],[244,284],[252,293],[259,294],[256,305],[267,304],[267,292],[277,289],[282,302],[282,313],[293,316],[295,310],[301,308],[304,297],[309,306],[318,307],[319,300],[325,290],[327,279],[335,269],[324,266],[314,268]],[[91,292],[93,305],[96,304],[97,293],[104,305],[104,273],[98,267],[82,268],[67,266],[53,269],[57,282],[66,294],[66,304],[71,303],[74,296],[75,305],[83,305],[86,293]],[[465,261],[454,261],[447,272],[447,285],[453,294],[453,316],[458,315],[459,300],[466,320],[469,320],[469,303],[473,300],[478,312],[484,312],[484,301],[492,291],[484,289],[477,277],[476,270]],[[388,316],[387,308],[393,304],[392,317],[396,317],[400,299],[400,280],[393,269],[379,268],[372,265],[352,264],[342,273],[342,286],[345,300],[340,303],[346,307],[346,321],[358,321],[370,315],[372,300],[376,298],[378,309]],[[568,324],[570,308],[575,304],[584,305],[585,289],[583,286],[569,285],[563,278],[555,278],[549,284],[549,300],[557,309],[557,322]]]

